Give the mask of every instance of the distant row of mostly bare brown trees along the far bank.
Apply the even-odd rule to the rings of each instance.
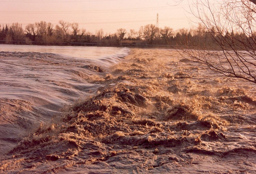
[[[104,33],[103,29],[95,33],[80,28],[78,23],[68,23],[59,20],[54,26],[46,21],[28,24],[23,29],[22,24],[0,26],[1,43],[6,44],[35,44],[35,45],[79,45],[79,43],[95,44],[98,46],[120,46],[123,45],[197,45],[198,48],[212,47],[218,45],[213,42],[214,28],[207,29],[199,24],[193,29],[179,29],[174,31],[171,27],[157,28],[156,25],[148,24],[141,26],[138,31],[119,28],[115,33]],[[221,37],[229,38],[230,35],[238,39],[247,39],[234,31],[223,31],[226,33]],[[221,39],[219,36],[215,36]]]

